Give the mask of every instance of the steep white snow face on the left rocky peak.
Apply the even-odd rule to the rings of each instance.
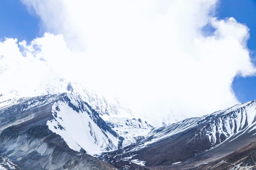
[[[52,112],[54,119],[47,121],[49,129],[60,135],[71,149],[84,149],[90,155],[118,149],[119,135],[78,97],[64,94],[52,105]]]

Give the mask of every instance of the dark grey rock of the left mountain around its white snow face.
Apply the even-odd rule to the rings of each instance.
[[[7,106],[0,108],[0,154],[14,161],[16,169],[112,170],[110,164],[86,154],[85,150],[77,152],[70,149],[60,135],[48,129],[47,121],[54,119],[52,105],[58,100],[69,102],[65,94],[22,98],[15,101],[15,105],[6,101]],[[74,110],[85,111],[83,105],[86,103],[78,107],[71,104]],[[98,117],[94,112],[92,118]],[[101,127],[107,126],[100,119],[95,121],[101,122]]]

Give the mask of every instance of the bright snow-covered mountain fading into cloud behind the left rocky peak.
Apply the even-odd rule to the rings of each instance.
[[[85,76],[86,73],[82,75]],[[112,93],[106,94],[90,80],[81,82],[80,79],[79,74],[71,75],[68,69],[60,72],[54,65],[33,56],[0,56],[0,102],[14,97],[35,97],[66,92],[79,96],[100,115],[132,116],[129,107],[122,104],[118,97]]]

